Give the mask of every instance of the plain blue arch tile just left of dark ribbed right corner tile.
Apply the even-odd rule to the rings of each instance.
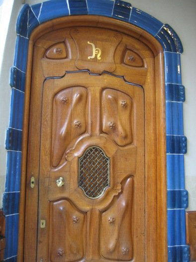
[[[163,23],[155,17],[135,7],[132,8],[129,22],[143,28],[154,36],[163,26]]]

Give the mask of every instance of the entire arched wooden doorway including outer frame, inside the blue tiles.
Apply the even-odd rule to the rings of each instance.
[[[73,261],[84,260],[85,254],[88,254],[87,261],[104,258],[114,261],[130,261],[134,258],[141,261],[167,260],[163,75],[161,45],[150,34],[131,24],[100,16],[72,16],[46,22],[33,31],[27,66],[22,150],[22,188],[26,196],[21,198],[20,204],[18,258],[22,260],[24,243],[24,261],[30,250],[32,261],[36,256],[43,261],[50,256],[50,260],[55,261],[56,258],[65,258],[65,254],[71,256]],[[98,93],[96,90],[99,90]],[[82,97],[81,105],[73,109],[77,95]],[[71,107],[65,110],[62,105],[68,106],[68,101],[71,101]],[[73,121],[69,120],[68,111]],[[71,121],[69,128],[67,121]],[[59,131],[64,135],[56,136]],[[70,137],[69,141],[67,137]],[[82,192],[85,188],[80,184],[79,163],[92,147],[101,150],[105,159],[109,159],[110,166],[104,192],[98,198],[88,199]],[[123,150],[128,151],[123,153]],[[70,165],[66,171],[68,162]],[[65,185],[58,188],[57,180],[63,180]],[[126,192],[127,183],[129,193],[126,198],[123,192]],[[69,193],[65,192],[68,188]],[[118,210],[121,198],[124,203],[128,199],[129,217],[124,215],[121,221],[125,223],[125,228],[128,227],[125,230],[127,234],[122,235],[126,235],[125,242],[129,245],[121,247],[116,243],[114,246],[119,250],[113,249],[113,254],[110,251],[108,255],[105,246],[111,246],[111,239],[107,237],[110,234],[103,230],[105,226],[101,224],[100,216],[104,218],[105,212],[112,207]],[[78,199],[82,201],[81,204]],[[99,205],[101,201],[105,203],[102,206]],[[90,209],[89,206],[95,207]],[[95,223],[92,226],[95,227],[94,234],[84,237],[78,244],[78,247],[82,245],[85,248],[81,252],[73,251],[83,254],[80,258],[74,259],[73,254],[68,255],[66,244],[64,248],[57,245],[55,255],[50,253],[54,246],[49,236],[53,236],[55,227],[61,229],[58,225],[62,214],[57,214],[56,207],[56,210],[75,210],[70,213],[76,217],[71,225],[80,225],[77,223],[79,215],[84,217],[84,223]],[[75,216],[74,212],[79,215]],[[59,216],[57,225],[52,213]],[[120,221],[120,212],[112,214],[105,216]],[[113,222],[110,223],[107,218],[109,226],[118,225]],[[85,229],[84,236],[87,236],[89,229],[86,224]],[[116,226],[115,232],[120,236],[120,225]],[[74,235],[73,231],[70,234]],[[96,251],[93,250],[94,236],[97,236]],[[61,236],[57,235],[57,240],[59,238]],[[102,239],[106,242],[102,242]],[[84,245],[90,240],[91,245]],[[123,238],[120,243],[123,243]],[[87,249],[87,246],[92,248]],[[103,248],[98,253],[100,247]]]

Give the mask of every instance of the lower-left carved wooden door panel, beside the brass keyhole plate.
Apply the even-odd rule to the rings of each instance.
[[[81,260],[85,254],[85,234],[85,214],[67,200],[50,203],[51,262]]]

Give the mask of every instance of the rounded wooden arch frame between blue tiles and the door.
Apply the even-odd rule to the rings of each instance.
[[[25,215],[25,190],[26,190],[26,161],[27,161],[27,141],[28,141],[28,122],[29,122],[29,103],[31,89],[32,57],[35,41],[43,34],[65,27],[72,26],[97,26],[108,29],[114,29],[145,43],[154,53],[155,61],[155,94],[150,86],[143,86],[145,91],[145,118],[148,123],[153,120],[153,114],[156,117],[154,127],[145,125],[146,136],[149,138],[146,147],[146,174],[156,176],[156,192],[146,192],[147,203],[150,210],[147,211],[146,225],[146,243],[156,242],[157,261],[167,261],[167,186],[166,186],[166,121],[165,121],[165,85],[164,85],[164,58],[161,44],[151,34],[130,23],[126,23],[113,18],[104,16],[77,15],[61,17],[45,22],[36,27],[31,33],[28,48],[28,63],[26,71],[25,85],[25,105],[24,105],[24,124],[22,138],[22,169],[21,169],[21,194],[19,208],[19,245],[18,261],[23,261],[24,244],[24,215]],[[156,112],[152,113],[149,105],[153,99],[156,103]],[[152,130],[155,133],[152,134]],[[156,152],[152,152],[152,145],[156,147]],[[154,154],[154,155],[153,155]],[[148,159],[149,158],[149,159]],[[151,173],[151,166],[156,165],[156,174]],[[150,176],[146,176],[147,185],[150,184]],[[146,189],[148,190],[148,189]],[[157,198],[155,198],[155,196]],[[154,203],[156,200],[157,203]],[[150,205],[151,204],[151,205]],[[155,205],[156,204],[156,205]],[[156,209],[156,210],[155,210]],[[153,212],[155,211],[155,212]],[[151,223],[151,217],[157,216],[157,224]],[[157,236],[153,236],[153,227],[157,227]],[[155,239],[154,241],[151,241]],[[152,252],[151,244],[147,247],[147,255]]]

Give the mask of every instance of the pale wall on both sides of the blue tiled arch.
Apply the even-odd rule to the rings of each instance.
[[[186,189],[189,191],[189,210],[196,210],[196,0],[127,1],[131,2],[134,7],[155,16],[160,21],[169,23],[178,33],[184,46],[184,53],[181,57],[182,80],[186,88],[184,128],[185,135],[188,137],[188,153],[185,155]],[[5,129],[8,127],[10,103],[9,68],[13,64],[15,23],[22,2],[22,0],[14,1],[0,74],[0,195],[4,187],[6,162],[4,141]],[[40,0],[26,0],[25,2],[35,4]],[[1,12],[1,14],[4,14],[4,12]],[[9,17],[6,18],[6,23],[8,23],[8,20]]]

